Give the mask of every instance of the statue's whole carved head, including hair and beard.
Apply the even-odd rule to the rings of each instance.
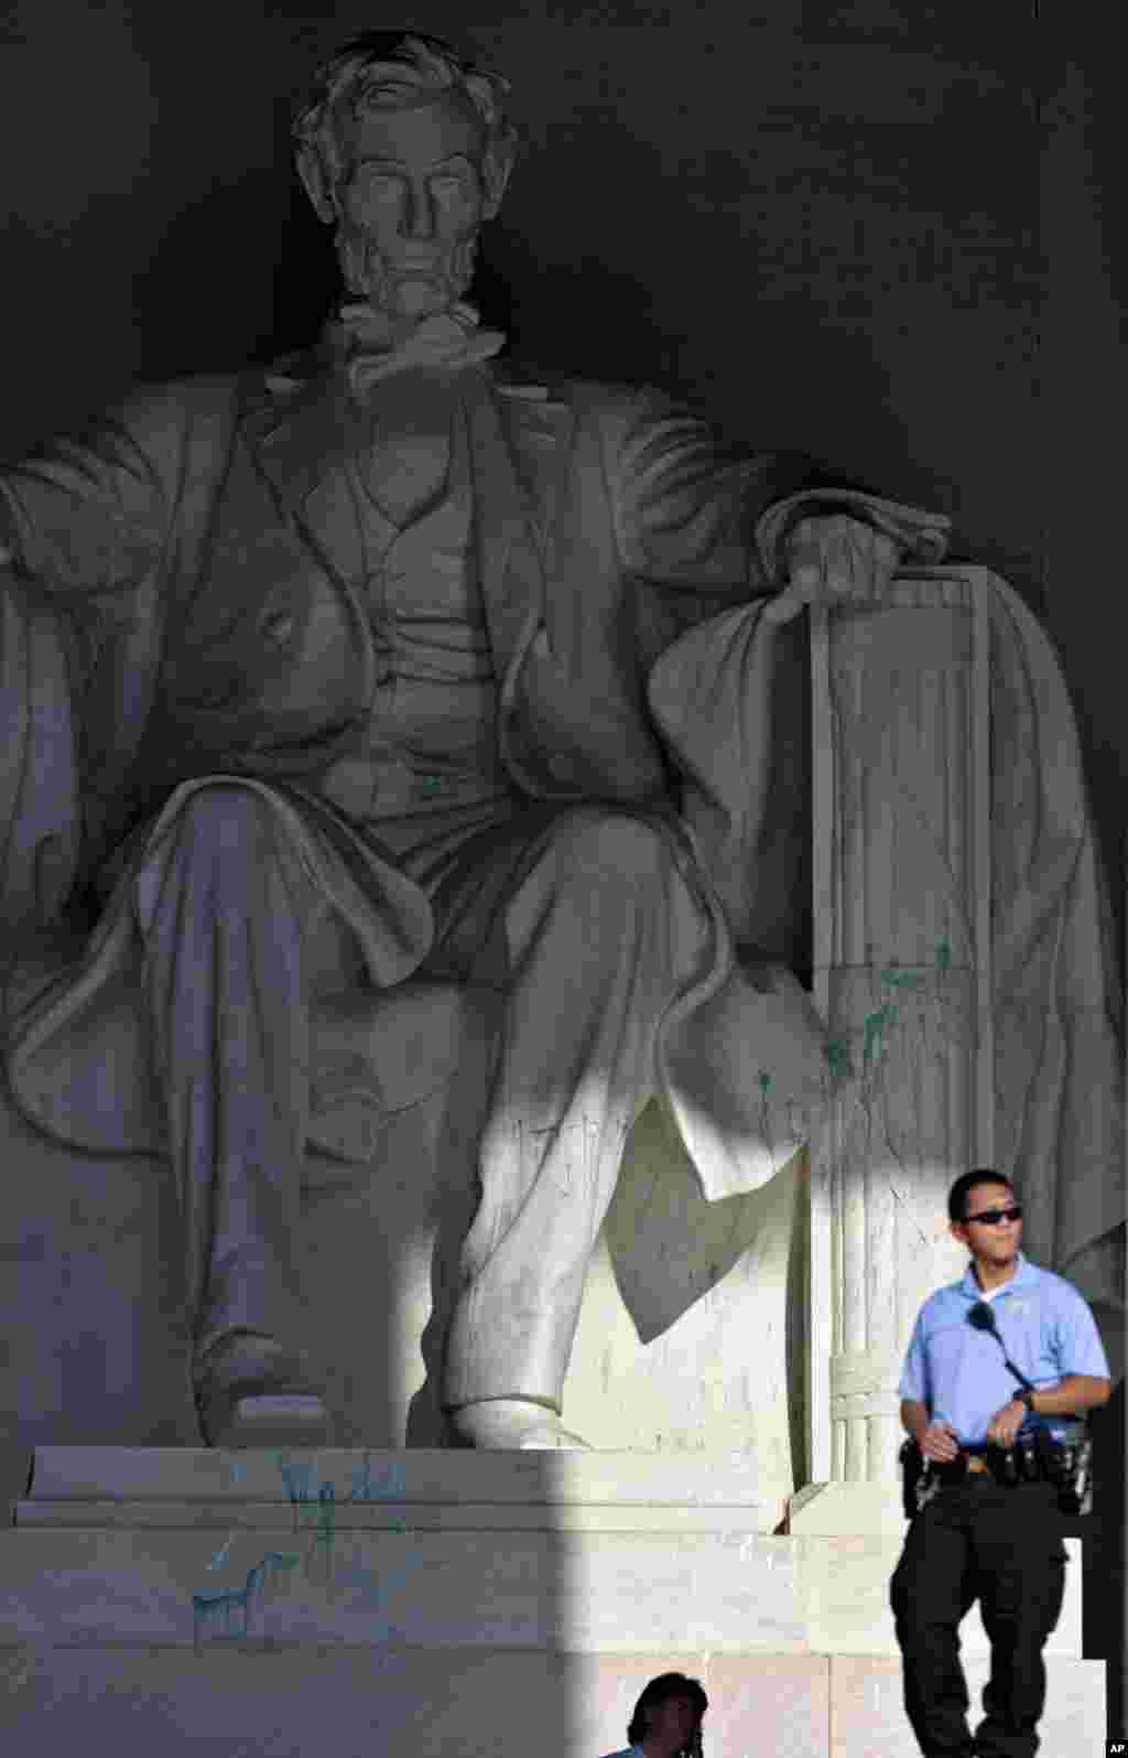
[[[348,290],[390,318],[445,311],[469,287],[513,169],[508,90],[422,32],[362,32],[315,76],[297,171],[336,227]]]

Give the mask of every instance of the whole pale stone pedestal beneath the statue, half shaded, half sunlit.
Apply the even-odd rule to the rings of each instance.
[[[678,1668],[710,1753],[912,1758],[898,1536],[770,1514],[747,1454],[40,1449],[0,1538],[0,1746],[596,1758]],[[1042,1735],[1098,1751],[1070,1591]]]

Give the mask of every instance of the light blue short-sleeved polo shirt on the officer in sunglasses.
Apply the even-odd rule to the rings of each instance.
[[[977,1301],[987,1301],[994,1311],[1003,1348],[1035,1392],[1068,1373],[1109,1378],[1096,1320],[1072,1282],[1038,1269],[1019,1252],[1010,1282],[984,1294],[968,1264],[959,1282],[924,1301],[898,1385],[901,1398],[924,1405],[929,1419],[947,1422],[965,1445],[986,1442],[991,1417],[1021,1391],[994,1336],[968,1324]],[[1035,1426],[1059,1438],[1068,1417],[1026,1415],[1023,1427]]]

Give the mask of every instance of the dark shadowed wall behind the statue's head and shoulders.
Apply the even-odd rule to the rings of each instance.
[[[1105,16],[1107,14],[1107,16]],[[0,454],[307,339],[336,281],[286,100],[374,7],[0,12]],[[430,0],[527,156],[478,297],[541,364],[699,397],[949,512],[1047,621],[1123,918],[1117,9]],[[1119,1714],[1119,1712],[1117,1712]],[[1110,1723],[1114,1726],[1116,1723]]]

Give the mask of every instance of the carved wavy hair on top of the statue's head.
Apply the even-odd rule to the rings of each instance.
[[[503,100],[510,81],[471,65],[441,37],[420,30],[362,30],[325,62],[293,114],[293,142],[304,181],[329,195],[341,178],[344,151],[339,123],[365,109],[397,109],[427,93],[460,91],[478,113],[485,134],[487,186],[492,190],[517,151],[517,128]]]

